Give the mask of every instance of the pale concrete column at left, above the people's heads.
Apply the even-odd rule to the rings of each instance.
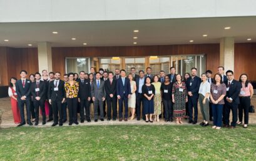
[[[53,71],[50,42],[38,42],[38,66],[39,72],[44,69],[48,72]]]

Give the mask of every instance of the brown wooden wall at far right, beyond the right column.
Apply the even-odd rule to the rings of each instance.
[[[235,44],[235,78],[248,74],[249,80],[256,80],[256,43]]]

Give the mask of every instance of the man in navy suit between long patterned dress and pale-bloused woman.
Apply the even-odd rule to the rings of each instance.
[[[188,113],[189,121],[188,123],[197,124],[197,115],[198,115],[198,91],[201,84],[200,77],[197,77],[197,68],[192,67],[191,77],[187,79],[186,85],[188,90]],[[194,119],[193,119],[193,108],[194,108]]]

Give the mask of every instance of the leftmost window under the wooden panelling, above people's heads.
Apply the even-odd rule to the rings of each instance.
[[[66,57],[66,73],[80,71],[89,72],[90,58],[85,57]]]

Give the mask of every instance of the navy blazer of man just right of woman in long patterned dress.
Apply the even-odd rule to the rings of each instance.
[[[190,85],[190,83],[191,83],[191,85]],[[192,92],[193,95],[198,97],[200,84],[201,84],[200,77],[195,76],[194,79],[192,79],[192,77],[189,77],[186,82],[188,92]]]

